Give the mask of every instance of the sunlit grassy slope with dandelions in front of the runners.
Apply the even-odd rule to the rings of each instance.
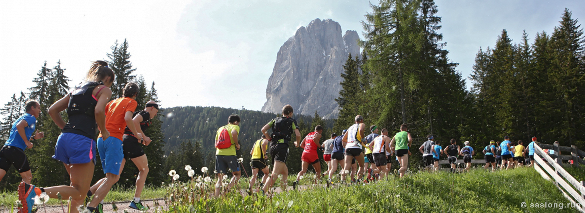
[[[289,178],[289,181],[292,177]],[[305,178],[306,180],[307,178]],[[245,181],[246,179],[242,179]],[[308,184],[307,180],[305,184]],[[301,184],[302,181],[301,181]],[[242,187],[242,183],[239,184]],[[532,168],[498,172],[472,170],[411,174],[373,184],[287,191],[268,198],[229,193],[223,198],[200,194],[183,184],[168,189],[177,212],[575,212],[572,208],[522,208],[521,202],[563,203],[556,186]],[[244,185],[247,187],[247,185]],[[211,187],[209,187],[211,190]],[[195,196],[194,196],[195,195]],[[191,199],[190,197],[195,197]],[[171,202],[172,203],[172,202]],[[174,212],[172,209],[169,212]]]

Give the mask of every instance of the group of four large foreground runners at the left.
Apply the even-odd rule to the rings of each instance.
[[[118,181],[125,162],[129,159],[139,169],[135,197],[129,207],[146,210],[140,202],[140,194],[149,167],[142,146],[149,145],[152,141],[144,135],[144,131],[149,127],[150,119],[159,111],[159,105],[149,101],[144,110],[135,111],[135,99],[140,88],[134,82],[125,85],[123,97],[111,100],[110,87],[114,79],[114,72],[107,62],[94,61],[85,82],[75,86],[71,92],[49,107],[49,116],[61,128],[52,158],[63,162],[70,176],[70,186],[36,187],[30,184],[32,173],[24,150],[32,148],[34,144],[31,141],[43,138],[44,133],[37,131],[33,134],[36,130],[36,118],[41,113],[39,102],[26,102],[26,113],[12,125],[9,138],[0,150],[0,180],[11,165],[22,176],[22,182],[18,186],[18,197],[22,204],[19,212],[36,211],[36,208],[33,209],[33,199],[37,196],[70,198],[68,212],[78,212],[80,206],[86,207],[90,212],[103,212],[104,197]],[[66,111],[69,119],[67,123],[63,120],[61,111]],[[99,136],[96,140],[97,131]],[[97,163],[96,150],[105,178],[91,186],[94,166]]]

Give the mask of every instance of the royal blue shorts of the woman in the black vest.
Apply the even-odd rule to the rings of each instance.
[[[95,141],[91,138],[74,133],[61,133],[55,145],[52,157],[65,164],[82,164],[96,162]]]

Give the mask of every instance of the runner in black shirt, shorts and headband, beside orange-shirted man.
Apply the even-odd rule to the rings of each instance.
[[[147,146],[150,144],[150,142],[152,142],[150,137],[147,137],[144,134],[144,131],[146,131],[147,128],[149,128],[150,119],[154,118],[154,116],[156,116],[157,113],[159,113],[159,104],[154,102],[154,100],[146,102],[144,110],[136,111],[133,114],[134,118],[132,118],[135,127],[138,126],[140,127],[136,128],[136,131],[142,134],[143,141],[138,141],[138,139],[134,136],[134,134],[132,134],[132,131],[128,127],[126,127],[126,129],[124,130],[124,137],[122,140],[123,145],[122,150],[124,152],[124,159],[122,159],[122,165],[125,165],[126,161],[130,159],[138,169],[134,199],[132,200],[132,202],[130,202],[130,205],[128,207],[137,209],[139,211],[147,210],[147,208],[144,207],[144,205],[142,205],[142,202],[140,202],[140,194],[142,194],[144,182],[146,181],[146,176],[148,175],[149,172],[148,158],[146,157],[146,154],[144,153],[144,150],[142,149],[142,146],[140,144]],[[97,188],[95,189],[97,190]]]

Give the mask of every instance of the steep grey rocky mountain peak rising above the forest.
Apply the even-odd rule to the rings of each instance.
[[[315,19],[300,27],[280,50],[266,87],[265,113],[280,113],[291,104],[295,113],[312,115],[315,110],[325,118],[336,118],[347,56],[361,58],[355,30],[342,33],[338,22]]]

